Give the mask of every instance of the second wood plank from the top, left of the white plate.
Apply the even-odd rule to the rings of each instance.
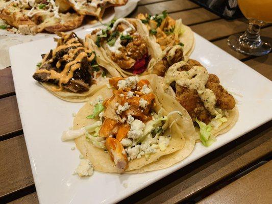
[[[22,130],[16,96],[0,99],[0,138]]]

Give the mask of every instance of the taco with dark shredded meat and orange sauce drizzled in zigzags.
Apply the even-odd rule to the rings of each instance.
[[[54,95],[67,101],[86,101],[119,73],[107,61],[97,61],[75,33],[59,33],[57,47],[42,55],[33,78]]]

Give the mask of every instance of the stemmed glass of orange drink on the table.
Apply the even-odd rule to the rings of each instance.
[[[249,28],[244,34],[230,36],[228,45],[248,55],[261,56],[269,53],[271,45],[261,40],[260,29],[265,23],[272,22],[272,0],[238,0],[238,6],[249,19]]]

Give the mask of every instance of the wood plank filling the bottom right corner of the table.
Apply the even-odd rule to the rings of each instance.
[[[241,177],[197,202],[199,204],[248,204],[271,203],[272,201],[272,161],[260,166],[249,174]]]

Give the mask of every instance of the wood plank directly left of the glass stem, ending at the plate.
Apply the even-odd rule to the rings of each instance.
[[[248,22],[244,18],[236,20],[219,19],[192,25],[190,28],[207,40],[216,40],[245,31],[248,28]]]

